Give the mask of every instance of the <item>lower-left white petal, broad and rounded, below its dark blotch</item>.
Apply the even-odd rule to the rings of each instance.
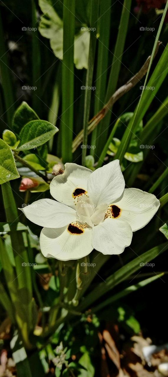
[[[40,247],[45,257],[54,257],[60,261],[80,259],[93,250],[91,228],[82,234],[71,234],[68,227],[59,229],[43,228],[40,234]]]

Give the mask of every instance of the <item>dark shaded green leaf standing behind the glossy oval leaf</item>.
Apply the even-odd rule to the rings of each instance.
[[[26,102],[22,102],[14,113],[12,128],[19,134],[25,124],[35,119],[39,119],[35,111]]]

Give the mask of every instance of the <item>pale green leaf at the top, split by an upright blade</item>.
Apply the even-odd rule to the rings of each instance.
[[[39,31],[49,38],[55,56],[63,59],[63,21],[48,0],[39,0],[44,13],[39,25]],[[74,38],[74,63],[77,69],[88,67],[90,33],[86,28],[80,30]]]

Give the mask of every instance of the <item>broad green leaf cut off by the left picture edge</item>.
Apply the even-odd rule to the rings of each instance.
[[[0,184],[19,177],[11,148],[0,139]]]

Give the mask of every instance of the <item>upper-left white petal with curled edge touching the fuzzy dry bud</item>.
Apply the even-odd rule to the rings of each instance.
[[[87,181],[92,170],[77,164],[67,162],[65,172],[54,177],[50,184],[50,192],[54,199],[75,208],[75,199],[73,192],[79,188],[87,190]]]

